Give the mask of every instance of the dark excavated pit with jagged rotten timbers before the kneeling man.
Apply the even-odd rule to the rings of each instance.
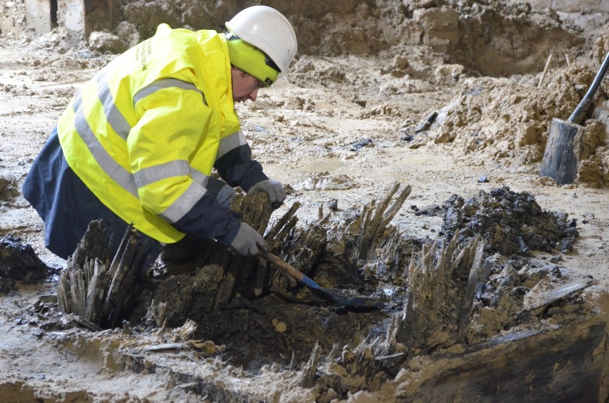
[[[409,194],[409,186],[400,189],[396,184],[385,198],[363,206],[350,223],[330,212],[304,227],[296,225],[294,205],[267,228],[272,210],[259,199],[265,195],[239,198],[233,206],[266,233],[272,252],[325,287],[380,297],[380,309],[329,304],[268,262],[191,240],[168,248],[152,279],[124,282],[132,291],[128,303],[102,297],[101,312],[109,317],[93,325],[95,318],[90,317],[71,322],[89,323],[91,329],[114,324],[114,330],[100,326],[99,335],[73,333],[62,336],[62,342],[71,344],[67,340],[75,335],[115,340],[110,342],[117,348],[113,354],[134,370],[215,359],[223,369],[238,369],[237,378],[274,372],[321,401],[387,387],[405,399],[427,399],[455,384],[459,387],[450,393],[455,399],[474,390],[484,399],[505,396],[506,384],[513,397],[598,399],[606,320],[585,297],[593,279],[559,267],[535,250],[535,245],[544,245],[544,253],[556,253],[546,250],[548,245],[573,242],[576,234],[568,220],[542,211],[532,195],[498,188],[467,203],[458,197],[445,203],[450,206],[445,223],[452,227],[443,232],[451,233],[450,238],[415,239],[391,224]],[[451,219],[465,213],[471,218],[476,214],[472,206],[487,218],[478,220],[484,225],[477,230],[468,225],[474,220]],[[528,211],[539,213],[529,221],[529,234],[549,227],[555,231],[546,231],[547,242],[530,243],[526,252],[502,255],[495,242],[505,244],[505,239],[490,236],[495,233],[488,228],[497,226],[494,219]],[[91,223],[90,240],[95,228]],[[81,246],[78,261],[86,267],[95,257],[83,259],[86,245]],[[71,290],[76,283],[75,273],[81,270],[76,261],[69,261],[60,290]],[[104,271],[99,265],[96,270]],[[121,270],[122,278],[129,279],[129,265],[114,276]],[[101,284],[99,278],[84,282]],[[84,304],[79,312],[89,312],[86,307],[96,303],[71,300],[71,295],[59,293],[60,310]],[[125,335],[131,341],[116,341]],[[553,365],[560,370],[549,373]],[[255,396],[239,382],[212,388],[214,375],[172,368],[172,376],[190,379],[200,393]],[[522,373],[529,374],[526,382],[521,382]],[[577,387],[570,377],[578,379]]]

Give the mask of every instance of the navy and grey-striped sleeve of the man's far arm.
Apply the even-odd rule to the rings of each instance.
[[[214,168],[222,179],[232,187],[240,186],[247,192],[249,188],[269,177],[262,172],[262,165],[252,160],[252,148],[242,131],[222,138]]]

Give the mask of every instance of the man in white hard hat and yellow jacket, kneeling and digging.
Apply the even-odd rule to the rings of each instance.
[[[118,239],[133,223],[153,259],[185,234],[240,255],[266,247],[227,208],[233,187],[264,191],[274,205],[286,195],[251,159],[234,103],[254,101],[286,73],[297,41],[289,21],[267,6],[244,9],[226,25],[218,34],[162,24],[81,86],[23,185],[51,252],[69,257],[99,219]],[[210,176],[212,168],[226,183]]]

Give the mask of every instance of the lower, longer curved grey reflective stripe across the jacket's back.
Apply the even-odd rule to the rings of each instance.
[[[107,173],[110,178],[112,178],[112,180],[114,180],[114,182],[121,185],[136,198],[139,198],[137,195],[135,181],[131,173],[112,159],[106,149],[101,146],[101,143],[99,143],[91,130],[91,126],[89,126],[86,118],[84,118],[84,109],[82,107],[82,96],[80,90],[74,97],[74,105],[72,108],[76,114],[76,116],[74,116],[74,128],[76,128],[76,133],[79,134],[82,141],[84,141],[86,144],[86,147],[89,148],[89,151],[91,151],[91,155],[93,155],[93,158],[95,158],[96,163],[101,167],[101,169],[104,170],[105,173]]]

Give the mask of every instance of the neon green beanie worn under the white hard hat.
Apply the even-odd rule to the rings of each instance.
[[[277,80],[279,70],[272,67],[274,63],[263,51],[248,44],[243,39],[239,39],[234,34],[227,34],[227,46],[230,63],[233,66],[258,78],[267,86]]]

